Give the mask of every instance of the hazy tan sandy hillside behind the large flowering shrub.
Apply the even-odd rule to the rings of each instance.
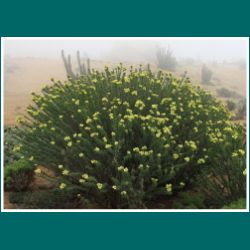
[[[91,66],[102,69],[104,65],[116,63],[93,61]],[[129,65],[129,63],[125,63]],[[182,75],[184,71],[193,83],[201,81],[201,64],[180,64],[175,72]],[[237,65],[209,65],[213,71],[211,86],[205,86],[209,91],[217,94],[216,89],[227,88],[246,96],[246,74]],[[76,68],[76,66],[74,66]],[[152,64],[152,68],[156,69]],[[50,83],[50,78],[65,80],[66,74],[61,59],[42,58],[6,58],[4,62],[4,124],[14,124],[16,116],[25,112],[30,102],[30,93],[38,92],[44,84]]]

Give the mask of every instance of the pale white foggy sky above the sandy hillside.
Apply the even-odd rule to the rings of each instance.
[[[11,57],[60,58],[61,49],[75,55],[79,50],[91,59],[116,61],[150,61],[157,47],[170,47],[177,58],[207,60],[240,60],[247,55],[247,42],[242,39],[36,39],[6,38],[4,54]]]

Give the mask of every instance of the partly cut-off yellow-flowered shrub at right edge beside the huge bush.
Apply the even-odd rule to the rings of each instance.
[[[231,124],[224,132],[225,140],[213,144],[213,159],[198,177],[207,204],[217,208],[246,197],[245,129]]]

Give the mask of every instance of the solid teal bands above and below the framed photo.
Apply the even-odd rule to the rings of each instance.
[[[246,36],[247,1],[5,1],[0,36]],[[2,156],[1,156],[2,157]],[[244,249],[249,213],[0,213],[1,249]]]

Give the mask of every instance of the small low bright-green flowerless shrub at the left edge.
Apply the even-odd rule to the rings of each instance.
[[[4,168],[4,185],[6,190],[27,190],[33,180],[33,165],[26,160],[16,161]]]

